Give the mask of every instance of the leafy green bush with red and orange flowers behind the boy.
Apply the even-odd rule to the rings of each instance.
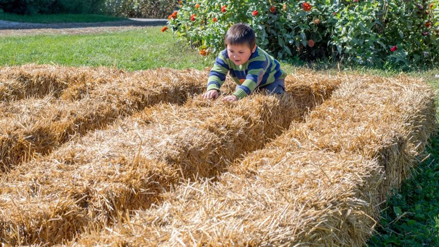
[[[247,23],[280,59],[331,57],[363,65],[439,62],[439,0],[191,0],[169,15],[174,34],[200,54],[224,49]],[[167,28],[162,29],[166,31]]]

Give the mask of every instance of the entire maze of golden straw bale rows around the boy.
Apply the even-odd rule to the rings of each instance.
[[[225,104],[196,96],[205,72],[48,68],[2,68],[31,71],[1,77],[18,135],[41,105],[58,115],[79,105],[64,122],[101,114],[96,105],[115,113],[34,138],[30,151],[3,148],[1,241],[13,245],[361,245],[434,129],[431,90],[405,77],[298,72],[283,97]],[[59,83],[66,70],[76,79]]]

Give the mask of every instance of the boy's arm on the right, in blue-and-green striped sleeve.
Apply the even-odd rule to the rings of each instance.
[[[264,75],[268,66],[268,58],[265,56],[255,57],[248,64],[248,74],[241,86],[233,93],[238,99],[242,99],[252,93],[262,80],[259,75]]]

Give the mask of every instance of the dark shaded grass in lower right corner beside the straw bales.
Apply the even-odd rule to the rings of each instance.
[[[439,135],[426,151],[430,156],[388,198],[367,246],[439,246]]]

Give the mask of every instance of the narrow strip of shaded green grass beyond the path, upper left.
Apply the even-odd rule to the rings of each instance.
[[[0,20],[31,23],[70,23],[70,22],[103,22],[122,21],[126,18],[101,14],[9,14],[0,13]]]

